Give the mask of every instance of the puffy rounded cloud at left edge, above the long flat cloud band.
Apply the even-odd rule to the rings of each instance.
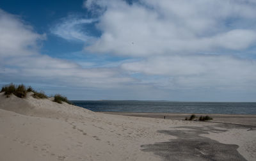
[[[19,17],[0,9],[0,57],[33,54],[38,48],[38,41],[45,38]]]

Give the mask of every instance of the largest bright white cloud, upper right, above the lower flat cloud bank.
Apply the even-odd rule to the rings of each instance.
[[[246,1],[86,1],[99,17],[102,36],[92,52],[127,56],[243,50],[256,42],[256,5]],[[243,25],[244,24],[244,25]]]

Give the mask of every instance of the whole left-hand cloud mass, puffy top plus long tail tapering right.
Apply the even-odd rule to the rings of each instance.
[[[82,68],[76,63],[40,54],[44,34],[37,34],[20,17],[0,10],[0,81],[65,84],[110,88],[132,82],[118,68]]]

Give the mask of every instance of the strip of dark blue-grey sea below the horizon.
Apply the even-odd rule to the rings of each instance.
[[[72,101],[95,112],[256,114],[256,102]]]

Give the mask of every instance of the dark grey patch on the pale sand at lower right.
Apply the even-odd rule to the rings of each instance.
[[[180,129],[179,129],[180,128]],[[177,137],[168,142],[142,145],[143,151],[153,152],[164,160],[246,160],[236,144],[222,144],[200,134],[225,132],[213,127],[176,127],[158,132]]]

